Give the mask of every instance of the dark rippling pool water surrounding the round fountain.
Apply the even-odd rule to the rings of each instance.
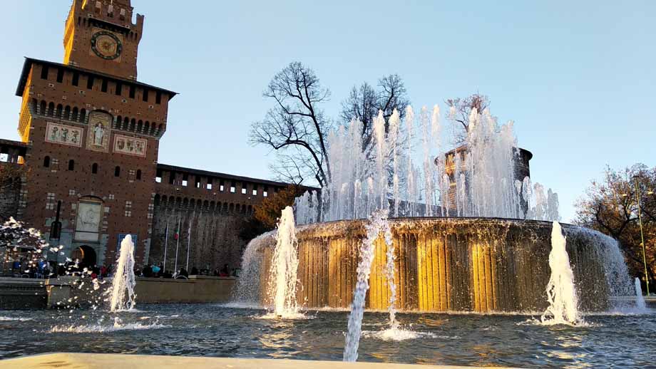
[[[141,305],[137,311],[0,311],[0,358],[48,352],[342,360],[346,311],[263,318],[221,305]],[[365,313],[359,360],[524,368],[654,365],[656,313],[585,316],[587,326],[540,326],[526,315],[401,313],[411,332],[381,334]],[[535,316],[535,318],[538,318]],[[394,338],[406,338],[396,341]],[[0,365],[1,366],[1,365]]]

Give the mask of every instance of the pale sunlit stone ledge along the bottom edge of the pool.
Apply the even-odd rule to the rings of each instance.
[[[156,356],[156,355],[121,355],[95,353],[50,353],[44,355],[26,356],[1,361],[3,369],[26,368],[76,368],[76,369],[180,369],[180,368],[230,368],[230,369],[410,369],[410,368],[473,368],[448,365],[411,365],[391,363],[344,363],[342,361],[311,361],[311,360],[280,360],[280,359],[247,359],[247,358],[207,358],[188,356]],[[481,368],[481,367],[477,367]],[[498,367],[497,367],[498,368]]]

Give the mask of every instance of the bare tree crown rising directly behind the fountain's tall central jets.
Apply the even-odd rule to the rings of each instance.
[[[394,109],[399,110],[402,120],[407,105],[410,105],[410,101],[403,80],[399,75],[391,74],[378,80],[377,90],[367,82],[353,86],[349,97],[342,101],[340,118],[342,124],[348,124],[352,119],[362,122],[362,147],[366,150],[371,143],[372,122],[379,110],[382,110],[385,117],[385,132],[389,132],[387,122]]]

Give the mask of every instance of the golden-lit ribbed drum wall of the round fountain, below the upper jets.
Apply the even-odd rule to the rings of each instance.
[[[305,308],[348,308],[357,281],[359,245],[366,220],[309,224],[297,228],[297,301]],[[396,307],[402,311],[544,311],[550,277],[553,223],[496,218],[389,219],[394,237]],[[606,248],[614,240],[562,224],[583,311],[608,308]],[[260,299],[267,286],[275,239],[258,247]],[[384,310],[391,295],[384,273],[387,246],[376,240],[366,308]]]

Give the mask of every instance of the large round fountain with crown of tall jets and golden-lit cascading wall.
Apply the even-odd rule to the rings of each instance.
[[[632,294],[617,241],[558,222],[558,194],[531,181],[532,155],[518,148],[512,122],[473,110],[466,144],[444,152],[438,106],[405,116],[374,118],[369,147],[357,120],[330,133],[331,181],[320,196],[296,199],[294,239],[284,243],[298,255],[297,308],[350,308],[345,361],[357,360],[363,335],[426,334],[401,331],[397,309],[544,312],[545,325],[580,325],[581,313],[608,311],[617,307],[611,296]],[[244,261],[252,265],[242,265],[242,278],[260,282],[245,300],[265,306],[274,299],[267,286],[292,289],[273,272],[287,263],[271,236],[251,241]],[[367,309],[387,311],[389,329],[363,333]]]

